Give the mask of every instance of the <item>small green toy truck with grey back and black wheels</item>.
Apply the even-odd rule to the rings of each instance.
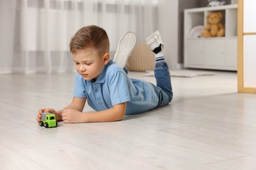
[[[41,122],[39,122],[40,126],[45,126],[45,128],[58,126],[55,114],[51,112],[42,112],[41,116]]]

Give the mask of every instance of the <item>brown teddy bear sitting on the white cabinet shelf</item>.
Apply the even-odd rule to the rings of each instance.
[[[221,12],[211,12],[207,14],[207,25],[203,27],[202,37],[223,37],[224,26],[221,24],[223,15]]]

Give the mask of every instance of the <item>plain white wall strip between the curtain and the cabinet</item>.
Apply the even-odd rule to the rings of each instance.
[[[165,58],[169,69],[180,69],[181,64],[178,63],[179,1],[159,0],[158,2],[158,29],[160,30],[164,43]]]

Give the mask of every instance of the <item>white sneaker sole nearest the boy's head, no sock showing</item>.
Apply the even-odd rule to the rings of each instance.
[[[137,37],[135,33],[125,33],[121,39],[119,39],[113,61],[115,61],[120,67],[124,68],[127,65],[129,56],[131,56],[131,52],[133,52],[133,48],[135,48],[136,42]]]

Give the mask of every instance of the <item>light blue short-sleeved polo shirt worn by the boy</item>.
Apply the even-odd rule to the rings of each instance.
[[[135,114],[158,105],[155,89],[150,82],[129,78],[121,67],[110,61],[95,82],[76,73],[74,97],[87,98],[88,105],[96,111],[127,102],[125,114]]]

